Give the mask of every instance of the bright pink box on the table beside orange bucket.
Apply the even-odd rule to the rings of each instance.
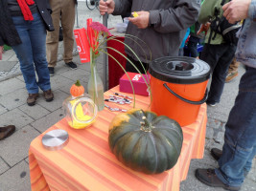
[[[135,95],[150,96],[147,84],[145,83],[142,75],[137,74],[137,73],[128,73],[128,75],[124,74],[119,79],[119,85],[120,85],[119,91],[120,92],[133,94],[128,76],[131,79]],[[143,74],[143,76],[150,84],[150,74]]]

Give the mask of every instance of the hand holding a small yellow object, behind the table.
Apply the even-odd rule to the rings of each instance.
[[[128,17],[128,20],[136,25],[139,29],[146,29],[149,27],[150,12],[149,11],[137,11],[137,17]]]

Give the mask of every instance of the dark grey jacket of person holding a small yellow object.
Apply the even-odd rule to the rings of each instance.
[[[187,29],[198,19],[200,0],[114,0],[114,15],[126,14],[132,11],[150,11],[150,26],[138,29],[132,23],[128,24],[127,33],[137,36],[139,40],[125,39],[125,43],[146,63],[162,56],[177,55],[179,46]],[[142,46],[142,49],[140,46]],[[145,56],[145,51],[147,59]],[[126,53],[137,60],[126,48]]]

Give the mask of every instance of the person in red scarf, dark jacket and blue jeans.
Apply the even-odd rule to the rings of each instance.
[[[0,46],[12,46],[16,53],[29,93],[29,106],[35,105],[39,89],[46,101],[54,99],[45,50],[46,30],[54,30],[50,13],[48,0],[1,0],[0,3]]]

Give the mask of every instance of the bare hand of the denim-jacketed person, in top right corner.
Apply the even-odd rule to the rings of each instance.
[[[251,0],[232,0],[223,5],[223,16],[231,24],[243,20],[248,17],[250,3]]]

